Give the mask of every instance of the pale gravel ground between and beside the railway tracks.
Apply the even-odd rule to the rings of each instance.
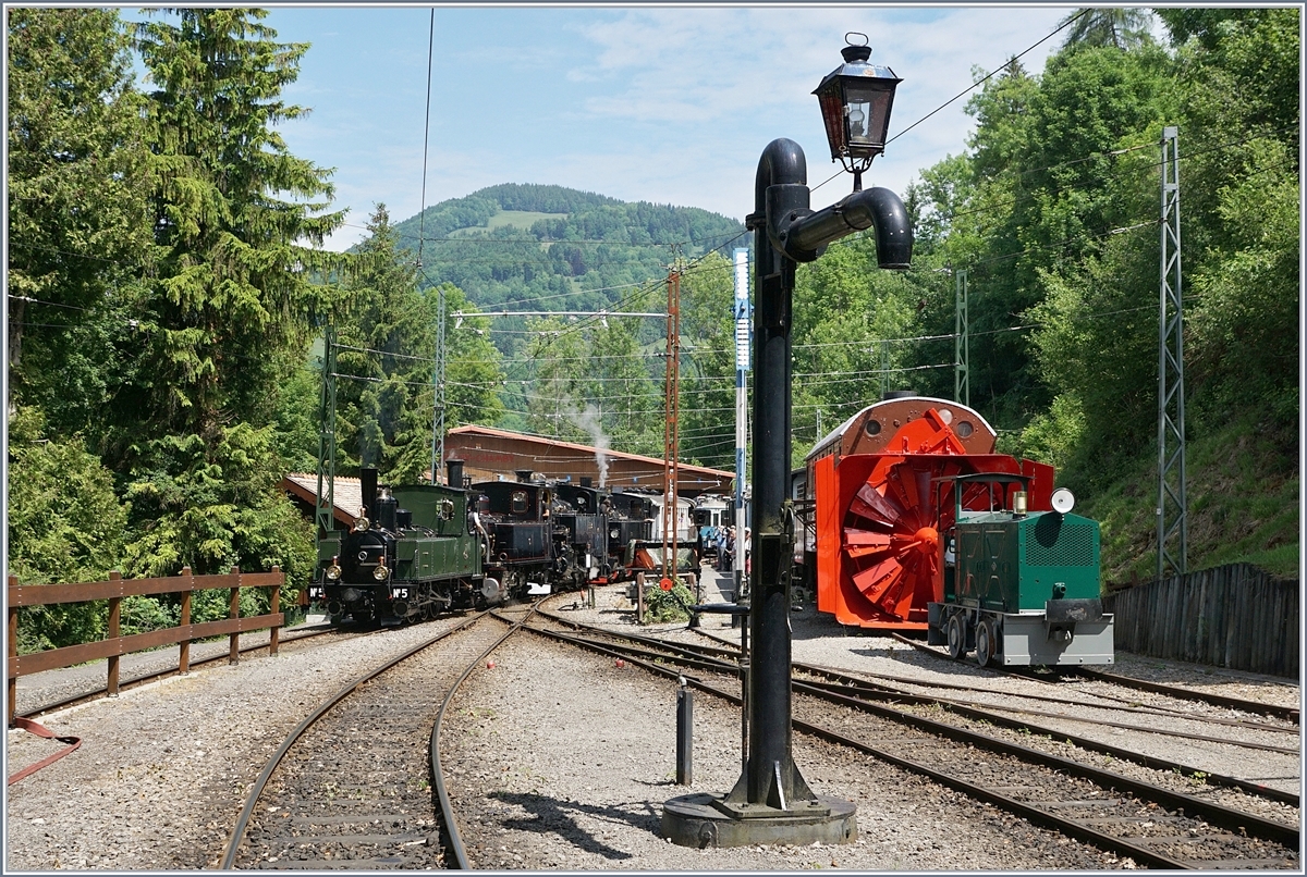
[[[710,573],[706,578],[703,599],[719,599],[715,577]],[[599,589],[596,608],[584,608],[578,600],[578,608],[565,615],[626,633],[704,642],[702,634],[685,630],[684,623],[637,626],[623,586]],[[246,790],[284,733],[362,668],[434,637],[448,624],[452,621],[357,638],[319,638],[311,641],[314,645],[285,649],[277,658],[212,664],[186,677],[127,689],[115,700],[43,716],[41,722],[55,733],[80,736],[84,743],[78,752],[8,788],[5,870],[213,868]],[[738,629],[729,628],[723,616],[706,616],[703,626],[708,633],[738,638]],[[810,607],[793,613],[792,626],[796,662],[914,676],[923,684],[967,681],[1000,693],[1027,688],[1048,693],[1038,683],[993,679],[974,666],[938,662],[893,639],[847,636],[833,619]],[[175,651],[171,659],[175,663]],[[1140,668],[1132,666],[1136,660]],[[690,791],[727,791],[735,784],[741,770],[738,709],[697,694],[694,783],[677,786],[673,683],[630,666],[617,668],[612,660],[533,634],[503,646],[494,664],[481,667],[468,680],[457,709],[446,718],[442,737],[451,793],[461,805],[464,843],[477,868],[1043,870],[1133,865],[802,735],[795,736],[796,763],[814,791],[857,804],[857,842],[704,851],[676,847],[659,837],[661,804]],[[1231,690],[1244,683],[1229,671],[1191,671],[1188,666],[1123,655],[1116,672],[1159,667],[1167,681],[1178,676],[1175,681],[1182,684],[1188,680],[1195,686],[1253,697]],[[68,679],[74,673],[90,673],[102,684],[103,662],[21,679],[20,711],[24,703],[30,709],[58,700],[51,692],[71,685]],[[1255,679],[1247,680],[1247,688],[1268,701],[1299,700],[1298,688],[1287,681]],[[1153,702],[1150,694],[1132,697]],[[1191,707],[1209,709],[1200,703]],[[1084,724],[1067,727],[1082,736],[1095,733]],[[1189,763],[1201,754],[1210,760],[1212,770],[1236,773],[1229,765],[1217,767],[1225,758],[1222,750],[1230,746],[1210,744],[1206,750],[1195,741],[1162,735],[1137,737],[1140,748],[1158,757]],[[10,730],[7,771],[13,774],[59,746]],[[1276,761],[1273,771],[1276,777],[1265,779],[1298,787],[1297,763]],[[1294,813],[1280,816],[1297,821]]]

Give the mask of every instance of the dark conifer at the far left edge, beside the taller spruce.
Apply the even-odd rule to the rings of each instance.
[[[149,244],[141,100],[116,12],[7,16],[10,390],[55,433],[95,438]]]

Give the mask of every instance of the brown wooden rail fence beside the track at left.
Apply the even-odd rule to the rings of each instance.
[[[284,582],[285,576],[281,574],[277,566],[273,566],[271,573],[242,573],[238,568],[233,566],[230,573],[220,576],[192,576],[191,568],[187,566],[182,570],[180,576],[169,578],[123,578],[120,573],[115,572],[108,574],[107,582],[76,582],[69,585],[21,586],[18,585],[18,578],[10,576],[8,589],[9,698],[5,713],[7,724],[13,726],[18,697],[18,676],[107,658],[108,693],[110,696],[116,696],[119,658],[133,651],[180,643],[182,651],[178,658],[178,671],[184,673],[191,668],[192,641],[230,634],[231,641],[227,660],[234,664],[240,654],[239,638],[242,633],[272,628],[268,650],[271,654],[277,654],[278,633],[281,625],[285,624],[285,615],[278,611]],[[240,617],[242,587],[271,589],[268,615]],[[218,621],[191,624],[191,594],[216,589],[229,589],[231,591],[227,603],[227,617]],[[119,636],[122,599],[124,596],[148,594],[178,594],[182,598],[179,625],[127,637]],[[48,649],[30,655],[18,654],[18,607],[85,603],[88,600],[106,599],[108,600],[108,629],[103,639],[84,642],[77,646],[64,646],[63,649]]]

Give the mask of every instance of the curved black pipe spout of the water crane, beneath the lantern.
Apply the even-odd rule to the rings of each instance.
[[[872,227],[876,230],[877,264],[899,270],[911,268],[912,222],[903,201],[889,189],[853,192],[838,204],[783,224],[776,230],[776,238],[787,256],[810,262],[826,244]]]

